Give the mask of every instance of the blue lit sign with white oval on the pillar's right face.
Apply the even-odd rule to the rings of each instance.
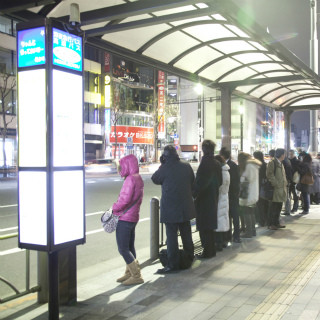
[[[82,38],[52,28],[53,64],[76,71],[82,71]]]

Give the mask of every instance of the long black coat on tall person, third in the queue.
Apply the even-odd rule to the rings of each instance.
[[[219,187],[221,184],[220,163],[214,159],[213,155],[204,155],[193,187],[198,230],[217,229]]]

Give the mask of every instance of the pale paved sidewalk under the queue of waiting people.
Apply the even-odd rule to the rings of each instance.
[[[145,283],[115,282],[120,258],[78,273],[78,304],[61,306],[60,318],[95,319],[320,319],[320,207],[284,217],[287,228],[259,228],[192,269],[155,275],[159,261],[138,250]],[[194,234],[197,240],[198,234]],[[36,294],[0,305],[1,319],[48,319]]]

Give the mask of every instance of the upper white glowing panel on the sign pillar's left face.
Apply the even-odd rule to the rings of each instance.
[[[45,167],[46,163],[46,72],[18,74],[19,166]]]

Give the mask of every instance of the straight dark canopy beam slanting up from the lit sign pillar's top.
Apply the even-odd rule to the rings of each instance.
[[[214,10],[213,8],[197,9],[197,10],[191,10],[191,11],[184,11],[176,14],[168,14],[160,17],[152,17],[150,19],[142,19],[142,20],[137,20],[132,22],[120,23],[116,25],[108,24],[101,28],[87,30],[86,36],[95,37],[105,33],[126,31],[126,30],[132,30],[132,29],[148,27],[148,26],[155,26],[157,24],[169,23],[172,21],[179,21],[179,20],[191,19],[191,18],[196,18],[201,16],[208,16],[213,14],[214,12],[216,12],[216,10]]]

